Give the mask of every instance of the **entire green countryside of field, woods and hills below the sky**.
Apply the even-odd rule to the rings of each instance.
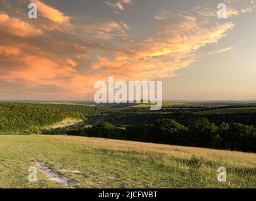
[[[250,111],[253,107],[242,109],[256,117]],[[205,106],[167,106],[165,110],[163,115],[143,108],[76,102],[1,102],[0,187],[255,187],[256,129],[242,124],[248,114],[231,114],[232,119],[223,114],[219,123],[216,114],[198,114],[209,111]],[[238,122],[233,122],[233,115]],[[119,118],[132,121],[120,124]],[[248,136],[241,137],[239,129],[247,130]],[[38,169],[38,182],[28,182],[30,166]],[[226,168],[227,182],[218,182],[219,166]],[[58,178],[50,178],[49,173]]]

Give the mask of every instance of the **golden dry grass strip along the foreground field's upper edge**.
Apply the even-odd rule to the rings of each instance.
[[[194,148],[186,146],[170,146],[166,144],[140,143],[135,141],[121,141],[115,139],[85,138],[73,136],[45,136],[52,139],[61,139],[69,143],[81,143],[94,148],[107,148],[115,151],[137,151],[148,153],[163,153],[169,156],[178,156],[189,159],[193,155],[207,158],[211,161],[225,161],[230,165],[256,167],[256,154],[240,151],[226,151],[217,149]]]

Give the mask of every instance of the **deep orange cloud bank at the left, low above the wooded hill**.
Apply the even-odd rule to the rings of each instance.
[[[3,51],[3,49],[3,47],[0,48],[0,55],[1,53],[11,54],[14,65],[6,67],[3,62],[0,62],[0,80],[9,83],[22,82],[26,87],[54,86],[61,89],[58,92],[60,98],[65,95],[85,97],[88,80],[84,75],[79,75],[75,68],[76,63],[71,59],[67,60],[66,63],[61,63],[49,58],[28,55],[28,53],[23,54],[18,50],[4,49]],[[15,63],[18,63],[18,67]],[[74,81],[76,79],[79,79],[80,85],[77,81]],[[76,85],[73,85],[73,83]],[[93,89],[93,86],[91,88]]]

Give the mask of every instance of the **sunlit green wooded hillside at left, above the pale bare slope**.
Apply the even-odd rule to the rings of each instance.
[[[59,107],[25,103],[0,103],[0,134],[25,134],[37,127],[48,126],[66,117],[86,120],[83,114]]]

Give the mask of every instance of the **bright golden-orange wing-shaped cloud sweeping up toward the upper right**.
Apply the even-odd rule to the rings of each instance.
[[[226,23],[212,29],[201,28],[191,18],[177,26],[167,26],[158,35],[145,40],[135,50],[115,55],[114,59],[98,57],[93,68],[102,69],[102,77],[115,75],[124,80],[150,80],[173,77],[175,71],[196,60],[195,52],[203,46],[218,42],[234,24]],[[181,31],[183,30],[183,31]]]

